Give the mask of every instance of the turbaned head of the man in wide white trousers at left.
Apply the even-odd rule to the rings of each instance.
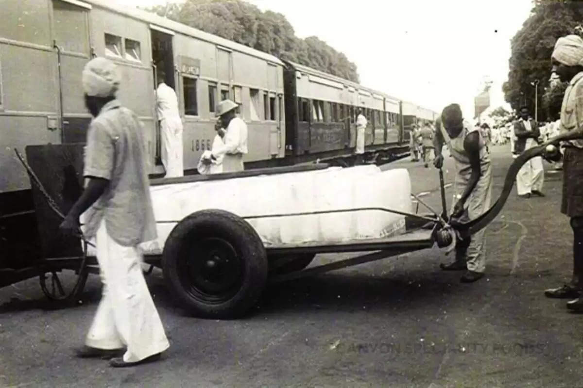
[[[85,106],[96,117],[103,105],[115,98],[120,87],[120,74],[114,63],[105,58],[94,58],[87,62],[81,74]]]

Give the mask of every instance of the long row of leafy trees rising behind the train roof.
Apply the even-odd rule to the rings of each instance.
[[[317,37],[296,37],[281,13],[262,12],[242,0],[187,0],[146,10],[278,58],[359,82],[356,65],[346,55]]]

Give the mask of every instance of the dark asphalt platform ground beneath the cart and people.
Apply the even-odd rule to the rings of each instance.
[[[493,151],[494,198],[507,148]],[[559,212],[562,174],[545,167],[547,196],[514,191],[488,227],[487,276],[473,284],[442,272],[449,258],[433,248],[269,286],[247,318],[215,321],[185,315],[154,271],[147,282],[171,347],[153,364],[113,369],[73,357],[99,302],[97,276],[73,308],[51,307],[36,279],[0,289],[0,386],[583,386],[583,315],[543,295],[567,282],[573,241]],[[413,193],[440,208],[436,169],[383,168],[408,168]],[[451,159],[444,170],[449,183]]]

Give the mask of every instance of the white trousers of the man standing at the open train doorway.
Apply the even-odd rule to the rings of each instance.
[[[160,120],[161,149],[160,156],[164,168],[165,178],[184,176],[182,159],[182,120],[180,116],[163,118]]]

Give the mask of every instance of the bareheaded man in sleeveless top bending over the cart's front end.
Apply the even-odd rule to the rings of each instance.
[[[492,172],[486,143],[477,127],[463,120],[458,104],[451,104],[437,120],[434,165],[441,168],[444,144],[455,161],[455,205],[451,217],[459,222],[478,218],[490,208]],[[441,264],[444,270],[466,270],[462,283],[472,283],[484,276],[486,252],[482,229],[473,236],[462,236],[455,246],[455,261]]]

